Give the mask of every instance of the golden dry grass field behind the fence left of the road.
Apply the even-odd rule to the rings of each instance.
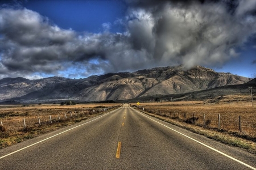
[[[22,105],[1,105],[0,106],[0,121],[7,130],[18,130],[24,127],[24,121],[27,126],[39,125],[40,122],[50,122],[49,116],[51,115],[52,121],[75,117],[76,114],[86,114],[93,110],[95,107],[113,107],[120,104],[77,104],[77,105],[30,105],[29,107],[22,107]],[[96,110],[96,109],[94,109]],[[75,114],[76,113],[76,114]]]

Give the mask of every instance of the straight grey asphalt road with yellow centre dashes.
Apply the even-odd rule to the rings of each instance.
[[[256,155],[123,107],[0,150],[0,169],[255,169]]]

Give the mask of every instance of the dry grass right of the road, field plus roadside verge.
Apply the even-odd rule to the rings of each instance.
[[[132,105],[160,120],[228,145],[245,148],[256,154],[256,104],[252,107],[249,101],[229,101],[217,104],[177,101],[140,103],[139,107],[136,103]],[[220,115],[220,128],[218,115]]]

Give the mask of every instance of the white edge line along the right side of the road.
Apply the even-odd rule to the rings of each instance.
[[[137,111],[137,110],[135,109],[135,111]],[[137,112],[140,113],[140,114],[142,114],[143,116],[147,117],[144,113],[139,112],[139,111],[137,111]],[[251,168],[251,169],[256,170],[256,168],[251,167],[250,165],[248,165],[248,164],[246,164],[246,163],[243,163],[243,162],[241,162],[240,160],[238,160],[238,159],[236,159],[236,158],[233,158],[232,156],[229,156],[229,155],[227,155],[227,154],[224,154],[223,152],[221,152],[221,151],[219,151],[219,150],[216,150],[216,149],[213,148],[213,147],[210,147],[210,146],[208,146],[208,145],[205,145],[204,143],[199,142],[199,141],[197,141],[196,139],[193,139],[193,138],[191,138],[191,137],[189,137],[189,136],[187,136],[187,135],[185,135],[185,134],[183,134],[183,133],[180,133],[179,131],[174,130],[174,129],[172,129],[172,128],[170,128],[170,127],[164,125],[164,124],[161,124],[160,122],[155,121],[155,120],[153,120],[153,119],[150,118],[150,117],[147,117],[147,118],[149,118],[150,120],[152,120],[152,121],[154,121],[154,122],[156,122],[156,123],[158,123],[158,124],[160,124],[160,125],[163,125],[164,127],[168,128],[168,129],[171,129],[171,130],[175,131],[176,133],[179,133],[179,134],[183,135],[184,137],[187,137],[187,138],[189,138],[189,139],[191,139],[191,140],[193,140],[193,141],[195,141],[195,142],[197,142],[197,143],[200,143],[201,145],[203,145],[203,146],[205,146],[205,147],[208,147],[208,148],[210,148],[211,150],[216,151],[216,152],[218,152],[218,153],[221,154],[221,155],[224,155],[224,156],[226,156],[226,157],[228,157],[228,158],[230,158],[230,159],[232,159],[232,160],[234,160],[234,161],[236,161],[236,162],[238,162],[238,163],[240,163],[240,164],[243,164],[243,165],[245,165],[245,166],[248,167],[248,168]]]

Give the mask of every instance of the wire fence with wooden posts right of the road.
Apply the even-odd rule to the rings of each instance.
[[[216,128],[227,131],[247,133],[256,135],[256,113],[202,113],[195,110],[190,112],[180,111],[179,109],[161,109],[157,107],[138,107],[138,109],[164,116],[172,119],[199,125],[207,128]]]

